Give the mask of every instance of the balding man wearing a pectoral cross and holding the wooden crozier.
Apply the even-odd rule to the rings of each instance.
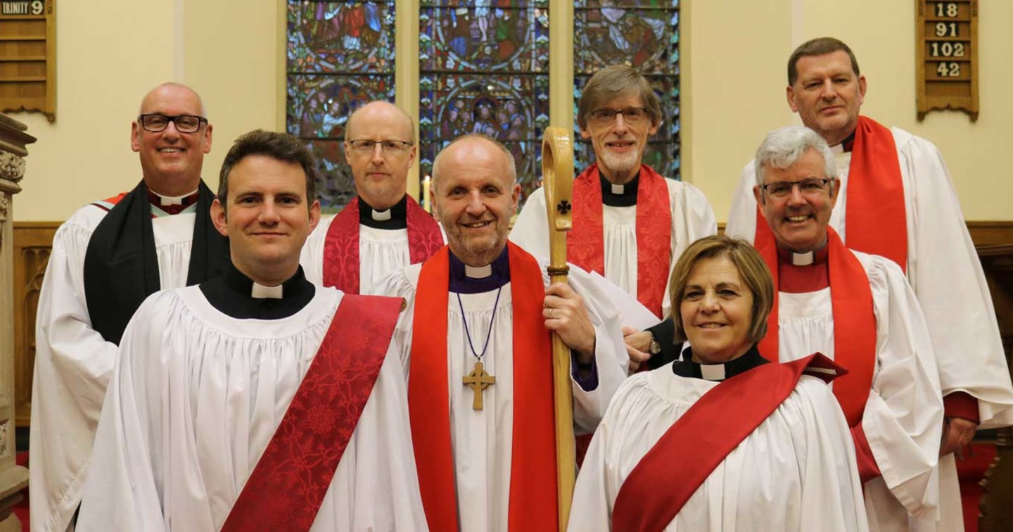
[[[555,530],[546,329],[572,350],[573,420],[591,432],[626,377],[620,323],[635,316],[620,316],[613,302],[636,303],[573,267],[572,288],[546,288],[544,269],[506,241],[520,185],[514,158],[494,140],[456,140],[433,174],[449,247],[374,287],[407,299],[403,319],[413,322],[397,333],[409,331],[399,343],[410,357],[412,443],[430,527]],[[650,323],[640,312],[640,323]],[[465,384],[477,378],[494,382]]]

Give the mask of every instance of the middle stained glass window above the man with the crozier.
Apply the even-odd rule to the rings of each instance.
[[[523,201],[549,123],[548,0],[422,0],[419,15],[421,175],[454,138],[483,133],[514,154]]]

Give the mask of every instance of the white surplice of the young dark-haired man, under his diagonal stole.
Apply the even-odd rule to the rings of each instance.
[[[231,318],[199,287],[149,297],[121,344],[78,529],[220,529],[342,297],[317,288],[275,320]],[[311,530],[425,529],[397,357],[392,341]]]

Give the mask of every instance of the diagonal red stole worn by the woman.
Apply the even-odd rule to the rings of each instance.
[[[728,453],[788,398],[802,373],[830,382],[847,370],[816,353],[785,364],[765,364],[704,393],[623,481],[612,510],[612,529],[665,529]]]

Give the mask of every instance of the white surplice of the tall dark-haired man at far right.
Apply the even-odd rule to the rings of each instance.
[[[929,325],[942,394],[945,397],[963,391],[976,397],[982,429],[1013,425],[1013,384],[992,296],[949,170],[931,142],[900,128],[890,128],[890,132],[904,182],[908,281]],[[830,225],[847,245],[845,214],[851,153],[838,153],[836,157],[841,192]],[[753,241],[757,221],[754,184],[756,172],[750,161],[743,168],[725,234]],[[940,474],[943,524],[939,530],[963,530],[952,455],[940,460]]]

